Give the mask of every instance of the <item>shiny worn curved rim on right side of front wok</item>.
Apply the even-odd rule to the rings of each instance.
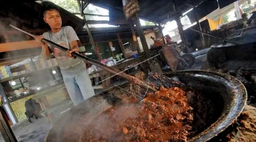
[[[235,86],[237,86],[238,88],[236,88],[236,90],[240,90],[238,92],[236,91],[232,93],[234,96],[230,105],[232,105],[233,107],[232,109],[231,108],[229,109],[228,113],[227,112],[223,113],[225,112],[225,110],[223,109],[220,117],[216,122],[212,123],[210,127],[208,127],[206,130],[204,130],[200,134],[188,140],[188,142],[206,142],[212,139],[213,137],[217,136],[218,134],[220,134],[222,131],[228,128],[228,126],[230,126],[237,120],[237,117],[240,116],[240,114],[244,110],[244,106],[247,101],[247,91],[243,83],[237,78],[229,74],[215,72],[215,71],[189,70],[189,71],[167,72],[167,73],[163,73],[163,75],[170,74],[175,76],[176,74],[187,74],[187,73],[213,75],[215,77],[221,77],[231,83],[231,88],[235,89],[236,88]],[[240,99],[240,101],[236,100],[237,97]],[[232,117],[228,117],[229,115],[231,115]],[[221,119],[221,117],[224,117],[224,119]]]

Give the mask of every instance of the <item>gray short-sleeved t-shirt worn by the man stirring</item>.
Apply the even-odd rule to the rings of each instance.
[[[55,42],[63,47],[66,47],[67,49],[71,49],[70,43],[72,41],[79,40],[75,30],[71,26],[64,26],[57,33],[52,33],[52,31],[45,32],[43,36],[45,39]],[[75,74],[86,69],[84,61],[78,58],[70,58],[66,55],[64,51],[55,48],[49,44],[48,46],[54,53],[54,56],[57,60],[58,65],[60,66],[62,73]]]

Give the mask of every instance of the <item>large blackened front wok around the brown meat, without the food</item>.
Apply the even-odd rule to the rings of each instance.
[[[247,100],[247,92],[243,84],[228,74],[211,71],[178,71],[164,75],[179,79],[186,84],[187,89],[196,90],[200,92],[198,95],[204,97],[204,102],[191,101],[192,107],[197,112],[195,121],[205,119],[205,123],[194,123],[200,126],[194,125],[198,129],[198,134],[189,140],[191,142],[204,142],[224,131],[240,115]],[[89,129],[86,125],[92,122],[98,113],[112,106],[108,99],[102,94],[96,95],[71,109],[68,115],[55,123],[49,132],[47,142],[82,142],[84,130]]]

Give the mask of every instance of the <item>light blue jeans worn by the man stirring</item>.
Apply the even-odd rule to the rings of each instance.
[[[69,97],[75,106],[94,95],[91,79],[86,70],[76,74],[62,73],[62,76]]]

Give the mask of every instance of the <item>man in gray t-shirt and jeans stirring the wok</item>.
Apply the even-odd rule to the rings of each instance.
[[[61,27],[61,17],[58,8],[55,5],[45,6],[44,21],[51,27],[51,31],[43,35],[36,36],[38,42],[41,39],[53,41],[69,49],[66,53],[49,44],[42,42],[41,55],[49,59],[50,50],[54,53],[57,63],[60,67],[65,86],[74,105],[92,97],[94,90],[90,77],[86,71],[85,63],[71,55],[72,52],[79,51],[77,41],[79,41],[76,32],[71,26]]]

